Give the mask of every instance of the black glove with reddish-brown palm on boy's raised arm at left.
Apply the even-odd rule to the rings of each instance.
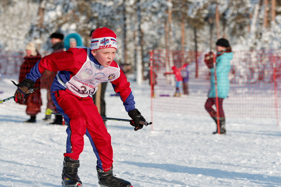
[[[34,90],[34,82],[30,79],[24,79],[21,83],[16,84],[14,81],[12,81],[14,85],[18,86],[18,89],[15,92],[14,101],[18,103],[25,104],[26,100],[25,98],[30,95]]]

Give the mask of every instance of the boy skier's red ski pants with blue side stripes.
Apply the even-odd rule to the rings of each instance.
[[[77,160],[83,151],[83,136],[86,134],[97,157],[98,167],[108,171],[113,162],[111,136],[92,98],[73,95],[67,89],[51,92],[51,96],[57,111],[63,114],[65,122],[68,123],[64,156]]]

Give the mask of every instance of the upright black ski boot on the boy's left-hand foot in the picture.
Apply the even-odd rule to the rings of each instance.
[[[62,169],[62,187],[82,187],[82,182],[78,177],[79,160],[65,157]]]

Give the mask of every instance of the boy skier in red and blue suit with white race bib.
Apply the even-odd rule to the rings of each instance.
[[[117,50],[116,34],[108,29],[95,29],[91,47],[80,46],[43,57],[19,83],[16,102],[25,102],[35,81],[44,70],[59,71],[51,86],[51,96],[57,111],[68,123],[66,153],[62,170],[62,186],[82,187],[78,177],[79,154],[83,151],[86,134],[97,157],[97,174],[102,187],[131,187],[131,183],[112,174],[111,137],[92,98],[101,82],[110,81],[123,101],[130,124],[137,131],[147,124],[135,108],[130,83],[114,61]]]

